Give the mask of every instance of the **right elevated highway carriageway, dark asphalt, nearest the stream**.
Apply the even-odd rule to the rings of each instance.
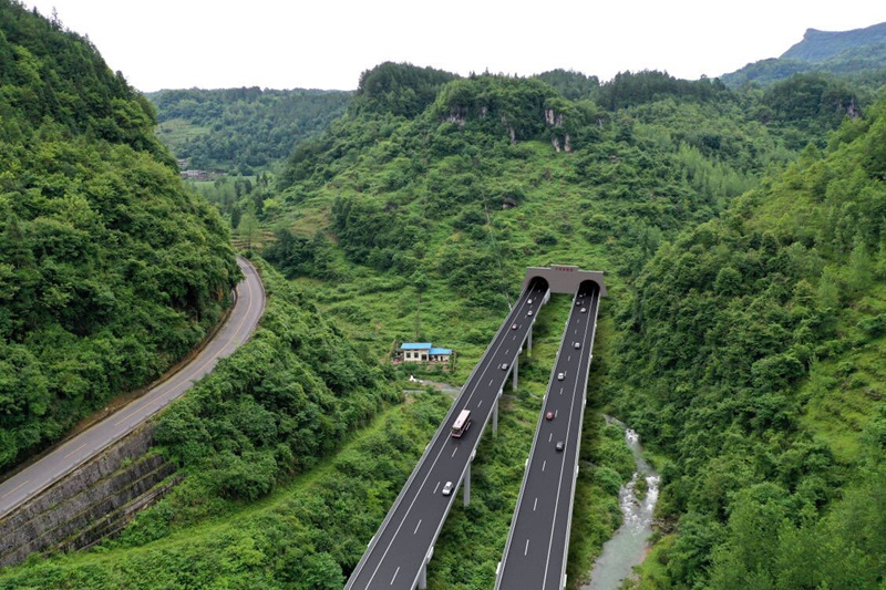
[[[586,281],[574,301],[539,416],[496,589],[563,588],[599,289]],[[547,418],[548,412],[554,414],[552,420]],[[564,445],[562,451],[557,449],[558,443]]]

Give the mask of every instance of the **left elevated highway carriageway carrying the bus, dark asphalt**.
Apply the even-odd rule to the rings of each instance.
[[[346,589],[415,588],[426,556],[456,501],[498,392],[507,381],[546,292],[547,283],[536,279],[517,300],[370,541]],[[507,366],[503,368],[504,364]],[[462,437],[455,438],[450,428],[462,410],[471,411],[472,425]],[[454,485],[449,496],[442,494],[446,482]]]

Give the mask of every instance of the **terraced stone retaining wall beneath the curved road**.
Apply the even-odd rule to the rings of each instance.
[[[153,426],[141,427],[0,519],[0,566],[89,547],[159,499],[178,478],[173,464],[147,454],[152,435]]]

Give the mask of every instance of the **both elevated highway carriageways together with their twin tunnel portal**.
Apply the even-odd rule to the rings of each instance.
[[[573,294],[550,373],[495,589],[562,590],[566,586],[585,392],[593,358],[602,272],[573,266],[528,268],[523,292],[481,356],[346,584],[346,590],[426,587],[426,568],[460,487],[471,501],[471,463],[486,425],[498,427],[498,400],[518,356],[532,353],[532,328],[552,293]],[[468,411],[472,426],[452,436]],[[447,486],[446,484],[450,484]],[[444,488],[450,488],[445,489]]]

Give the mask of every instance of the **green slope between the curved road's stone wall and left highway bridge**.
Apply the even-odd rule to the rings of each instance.
[[[256,265],[261,325],[158,418],[158,451],[184,480],[119,539],[3,568],[0,588],[343,586],[449,398],[389,407],[402,398],[390,368]]]

